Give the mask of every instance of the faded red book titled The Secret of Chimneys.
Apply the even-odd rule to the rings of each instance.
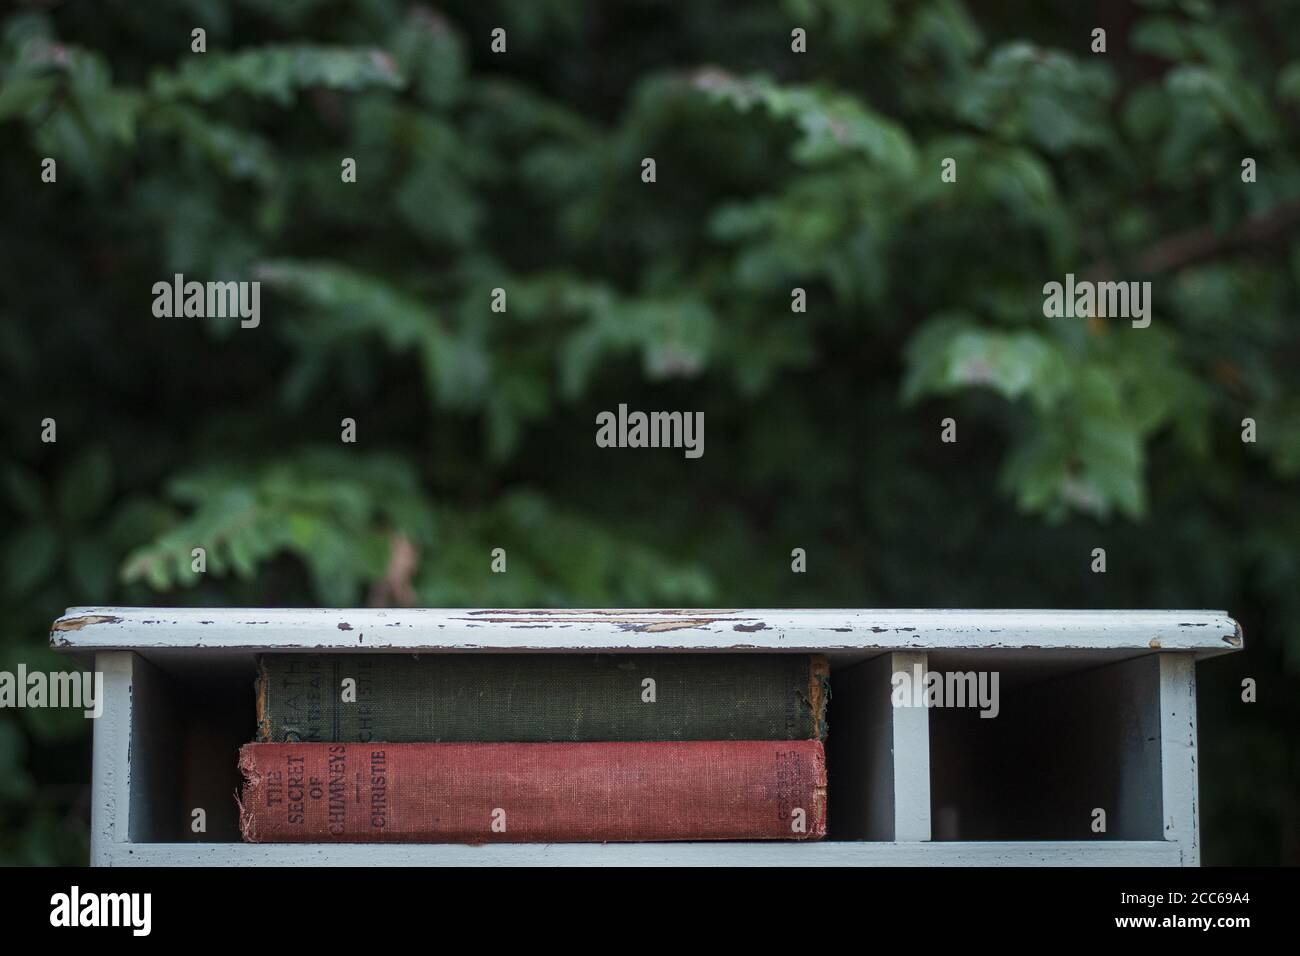
[[[810,840],[819,740],[246,744],[250,843]]]

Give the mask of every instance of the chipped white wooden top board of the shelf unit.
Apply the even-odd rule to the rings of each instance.
[[[1242,648],[1210,610],[70,607],[51,646],[95,650],[465,652],[1061,650]]]

